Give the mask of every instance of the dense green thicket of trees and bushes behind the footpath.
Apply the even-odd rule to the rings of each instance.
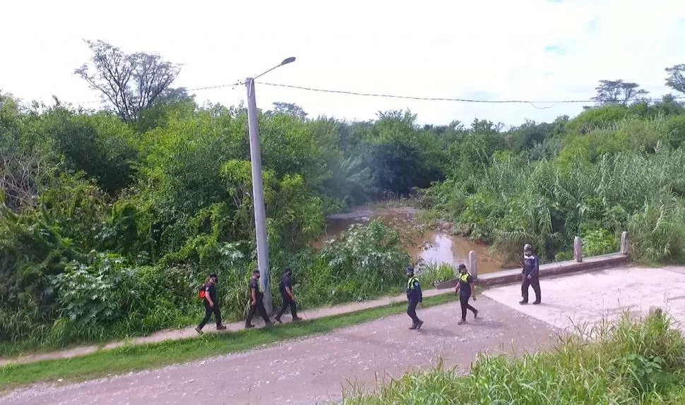
[[[0,92],[0,354],[185,327],[210,272],[225,317],[245,313],[246,109],[198,104],[159,55],[87,44],[93,59],[74,73],[102,109]],[[347,122],[275,103],[258,117],[271,285],[292,266],[309,308],[399,291],[406,230],[371,222],[311,243],[328,214],[409,196],[504,255],[528,242],[544,261],[570,258],[573,236],[609,253],[628,230],[633,259],[682,262],[684,72],[667,68],[676,95],[602,80],[575,118],[511,128],[418,125],[411,111]]]

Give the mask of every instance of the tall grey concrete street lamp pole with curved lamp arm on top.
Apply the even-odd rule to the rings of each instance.
[[[269,282],[269,245],[266,239],[266,210],[264,208],[264,186],[261,174],[261,151],[259,149],[259,128],[257,126],[257,102],[254,97],[254,79],[260,78],[266,73],[283,65],[294,62],[294,57],[283,61],[270,68],[268,71],[254,78],[246,78],[247,87],[247,123],[250,131],[250,160],[252,164],[252,194],[254,195],[254,227],[257,236],[257,266],[261,289],[264,293],[264,308],[268,315],[273,314],[273,300],[271,298],[271,286]]]

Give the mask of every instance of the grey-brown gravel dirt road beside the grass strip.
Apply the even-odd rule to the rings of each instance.
[[[518,299],[517,296],[512,297]],[[441,358],[468,367],[479,352],[535,351],[556,330],[481,296],[482,319],[458,326],[459,304],[419,310],[419,332],[396,315],[317,337],[77,385],[39,385],[11,392],[0,404],[317,404],[340,399],[342,387],[377,380]]]

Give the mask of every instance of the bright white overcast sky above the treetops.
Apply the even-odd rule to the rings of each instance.
[[[0,89],[25,101],[99,95],[73,75],[83,39],[183,64],[174,86],[261,80],[331,90],[469,99],[589,99],[602,79],[668,92],[685,64],[685,0],[2,1]],[[178,5],[177,5],[178,4]],[[195,92],[237,104],[243,86]],[[332,95],[258,85],[257,105],[294,102],[310,117],[373,119],[411,109],[420,123],[507,124],[575,115],[583,104],[470,104]],[[550,104],[537,104],[548,107]],[[95,104],[84,104],[96,107]]]

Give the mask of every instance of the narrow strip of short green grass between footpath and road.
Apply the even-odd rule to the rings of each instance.
[[[424,299],[424,306],[438,306],[454,301],[455,298],[455,294],[428,297]],[[246,351],[263,344],[273,344],[285,339],[330,332],[340,327],[357,325],[384,316],[400,314],[404,311],[405,304],[393,303],[389,306],[360,310],[345,315],[287,323],[270,329],[205,334],[193,339],[124,346],[70,359],[6,365],[0,368],[0,387],[12,389],[34,382],[52,382],[58,379],[63,379],[64,382],[75,382],[129,371],[157,368],[174,363],[196,361],[209,356]]]

